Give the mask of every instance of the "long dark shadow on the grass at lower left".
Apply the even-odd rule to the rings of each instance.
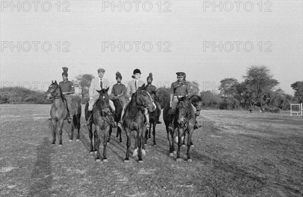
[[[28,196],[50,196],[52,194],[50,188],[52,187],[52,171],[54,170],[51,166],[53,146],[48,138],[44,138],[37,147],[37,161],[32,169]]]

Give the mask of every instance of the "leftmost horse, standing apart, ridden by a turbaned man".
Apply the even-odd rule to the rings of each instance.
[[[53,143],[56,143],[56,133],[57,133],[57,122],[60,123],[60,139],[59,139],[59,145],[62,145],[62,128],[63,128],[63,122],[68,118],[68,109],[67,109],[67,103],[65,100],[64,95],[62,94],[60,86],[57,84],[57,81],[53,82],[51,86],[48,87],[48,90],[46,91],[46,98],[50,99],[52,98],[53,104],[51,108],[51,117],[52,117],[52,123],[53,123]],[[72,106],[74,106],[70,110],[74,110],[74,116],[73,116],[73,122],[69,122],[70,128],[71,128],[71,136],[70,136],[70,142],[73,141],[74,138],[74,127],[77,126],[78,128],[78,137],[76,141],[80,141],[80,117],[81,117],[81,104],[80,102],[77,102],[75,100],[72,101]]]

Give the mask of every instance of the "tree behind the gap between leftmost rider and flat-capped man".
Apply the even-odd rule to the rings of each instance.
[[[93,75],[90,74],[82,74],[76,77],[76,80],[73,80],[74,86],[78,87],[81,92],[81,98],[82,102],[84,100],[84,97],[88,95],[88,89],[90,86],[90,82],[93,79]]]

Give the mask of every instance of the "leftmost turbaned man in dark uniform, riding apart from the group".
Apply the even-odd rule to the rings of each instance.
[[[69,117],[68,117],[68,121],[73,121],[73,116],[74,116],[74,111],[72,110],[71,107],[71,103],[72,103],[72,96],[71,94],[75,93],[75,88],[74,88],[74,84],[71,81],[68,81],[67,77],[67,71],[68,68],[67,67],[62,67],[63,69],[63,73],[62,73],[62,79],[63,81],[59,83],[59,86],[61,88],[61,92],[62,94],[64,94],[64,97],[66,99],[67,102],[67,107],[68,107],[68,111],[69,111]]]

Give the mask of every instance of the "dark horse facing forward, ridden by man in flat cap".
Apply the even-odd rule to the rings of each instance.
[[[110,111],[110,103],[109,103],[109,88],[97,90],[99,93],[99,99],[95,102],[94,107],[92,109],[91,119],[88,124],[88,132],[90,139],[90,153],[93,154],[93,151],[96,151],[97,157],[96,162],[100,161],[100,153],[99,146],[101,144],[100,136],[101,132],[104,131],[104,140],[103,140],[103,161],[108,162],[106,157],[106,146],[107,139],[109,137],[109,130],[112,120],[112,115]],[[85,105],[85,119],[88,120],[87,115],[88,103]],[[94,146],[92,146],[92,124],[95,125],[94,130]],[[94,149],[93,149],[94,148]]]

